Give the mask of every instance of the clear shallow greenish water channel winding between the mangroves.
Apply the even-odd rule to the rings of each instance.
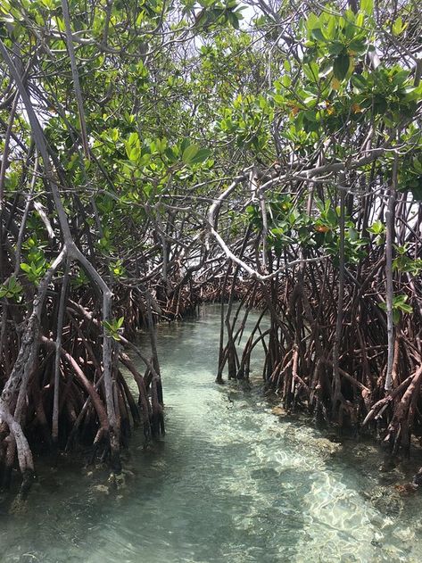
[[[133,435],[119,490],[77,460],[38,467],[27,511],[0,508],[2,563],[422,560],[422,497],[384,486],[401,471],[277,418],[258,385],[215,385],[218,341],[212,307],[159,327],[167,435],[151,451]]]

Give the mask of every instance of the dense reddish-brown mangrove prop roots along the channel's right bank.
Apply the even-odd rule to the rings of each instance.
[[[379,271],[380,264],[382,261],[369,272],[369,280]],[[283,283],[279,283],[278,289],[274,281],[250,280],[244,294],[251,298],[245,300],[244,310],[259,307],[268,311],[268,316],[261,314],[244,340],[236,378],[250,377],[252,351],[260,346],[265,389],[277,393],[284,410],[309,410],[316,420],[345,428],[353,435],[365,428],[374,433],[381,430],[381,437],[393,455],[399,451],[409,455],[411,435],[415,431],[420,435],[422,430],[422,368],[418,346],[407,337],[408,327],[397,329],[393,385],[385,393],[385,319],[372,296],[362,297],[366,285],[353,287],[352,282],[346,283],[340,331],[338,324],[336,327],[335,274],[329,264],[319,271],[310,267],[302,273],[286,272],[280,275]],[[227,313],[223,314],[224,307],[222,304],[221,326],[226,333],[226,344],[221,344],[219,351],[219,383],[223,382],[225,368],[228,378],[233,377],[228,360],[231,355],[232,364],[235,363],[236,355],[230,343],[233,335],[244,332],[243,323],[237,319],[238,311],[232,311],[228,317]],[[417,480],[422,482],[420,476]]]

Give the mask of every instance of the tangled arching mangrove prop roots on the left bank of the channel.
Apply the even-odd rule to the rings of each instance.
[[[128,447],[132,427],[142,424],[145,443],[165,432],[159,372],[151,364],[152,369],[143,376],[122,350],[112,349],[112,394],[109,393],[107,399],[101,344],[103,325],[80,303],[70,304],[69,310],[66,309],[70,323],[63,324],[66,338],[62,345],[58,346],[46,335],[39,335],[35,324],[26,332],[23,352],[22,349],[19,352],[22,360],[15,364],[10,376],[14,377],[13,381],[9,377],[4,384],[0,402],[0,488],[10,487],[13,469],[19,464],[20,501],[28,496],[33,482],[31,447],[37,452],[48,451],[56,462],[60,451],[69,452],[79,444],[86,449],[91,444],[89,462],[99,457],[117,476],[122,469],[120,448]],[[43,331],[48,332],[46,327]],[[35,358],[35,352],[39,368],[34,375],[28,370],[22,380],[19,370],[25,362]],[[54,381],[55,352],[59,354],[59,370],[55,370]],[[137,397],[130,390],[127,377],[119,370],[119,358],[137,383]],[[55,407],[54,384],[58,385]],[[58,431],[53,437],[54,408]],[[11,414],[13,411],[15,415]]]

